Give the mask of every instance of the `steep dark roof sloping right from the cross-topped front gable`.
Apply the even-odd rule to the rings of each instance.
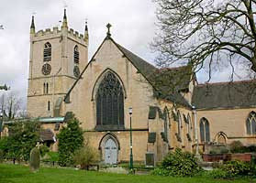
[[[156,97],[171,102],[177,102],[185,107],[190,107],[190,104],[180,93],[180,91],[188,89],[189,86],[191,74],[186,74],[188,66],[159,70],[146,60],[139,58],[139,56],[135,55],[127,48],[117,44],[112,38],[111,40],[154,87]]]

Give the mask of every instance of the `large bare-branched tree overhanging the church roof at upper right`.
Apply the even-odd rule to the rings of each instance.
[[[234,60],[242,59],[256,72],[255,0],[154,1],[160,32],[152,46],[160,53],[158,66],[183,60],[197,71],[207,62],[210,76],[213,64],[228,61],[233,74]]]

